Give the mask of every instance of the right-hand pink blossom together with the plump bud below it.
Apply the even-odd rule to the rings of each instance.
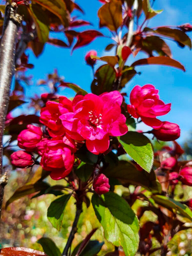
[[[157,139],[170,141],[180,137],[179,125],[157,119],[157,116],[163,116],[171,110],[171,103],[164,104],[153,85],[136,85],[130,94],[130,103],[131,105],[127,105],[127,111],[154,128],[152,133]]]

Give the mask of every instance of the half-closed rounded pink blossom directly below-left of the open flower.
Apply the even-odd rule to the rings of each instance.
[[[72,170],[75,161],[76,147],[74,140],[66,136],[54,137],[46,141],[46,147],[41,158],[41,165],[50,171],[53,180],[65,178]]]

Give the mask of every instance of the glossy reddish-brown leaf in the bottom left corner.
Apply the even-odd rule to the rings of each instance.
[[[8,247],[0,250],[0,256],[47,256],[44,252],[25,247]]]

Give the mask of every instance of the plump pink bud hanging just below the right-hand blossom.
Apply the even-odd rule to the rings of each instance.
[[[177,140],[180,137],[180,128],[178,124],[165,121],[158,130],[153,129],[151,133],[153,133],[158,140]]]

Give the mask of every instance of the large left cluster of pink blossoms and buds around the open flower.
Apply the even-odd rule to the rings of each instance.
[[[121,114],[122,101],[117,91],[100,96],[77,95],[73,101],[66,97],[59,97],[58,102],[47,101],[40,113],[45,131],[30,124],[20,132],[18,146],[25,151],[14,152],[12,164],[20,168],[33,165],[36,159],[32,152],[35,152],[41,156],[40,164],[52,179],[68,176],[75,162],[75,141],[85,141],[88,150],[98,155],[108,149],[109,136],[121,136],[128,131],[126,118]],[[94,188],[98,193],[108,191],[107,181],[107,177],[95,178]],[[101,186],[102,182],[106,189]]]

